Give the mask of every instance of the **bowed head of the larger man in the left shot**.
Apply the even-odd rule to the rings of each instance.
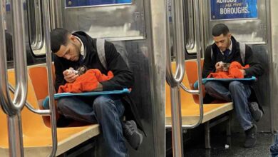
[[[51,51],[58,57],[78,61],[81,42],[68,30],[57,28],[51,31]]]

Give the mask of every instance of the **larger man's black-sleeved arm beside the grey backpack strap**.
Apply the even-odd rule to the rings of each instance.
[[[108,81],[101,82],[103,91],[133,87],[133,72],[128,69],[128,66],[126,65],[122,56],[120,56],[120,54],[115,49],[115,46],[107,41],[105,42],[105,58],[108,71],[112,71],[114,77]]]

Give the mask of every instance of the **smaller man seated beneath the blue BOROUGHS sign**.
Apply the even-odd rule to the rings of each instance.
[[[208,46],[205,51],[202,78],[206,78],[212,72],[223,71],[220,61],[224,63],[237,61],[242,66],[249,64],[248,69],[240,70],[244,77],[257,77],[263,74],[262,65],[253,55],[252,49],[246,45],[242,53],[240,43],[230,34],[225,24],[216,24],[212,28],[212,36],[215,43]],[[254,147],[257,141],[257,126],[252,120],[259,121],[263,112],[256,102],[257,98],[254,96],[252,85],[240,81],[208,81],[205,83],[205,91],[213,98],[234,103],[237,118],[246,134],[244,147]]]

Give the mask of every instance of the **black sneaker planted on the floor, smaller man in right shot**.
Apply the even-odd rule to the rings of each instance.
[[[245,148],[252,148],[257,142],[257,126],[253,124],[252,128],[245,131],[246,140],[244,143]]]

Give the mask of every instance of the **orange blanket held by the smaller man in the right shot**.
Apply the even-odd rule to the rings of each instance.
[[[239,62],[233,61],[230,65],[229,71],[218,71],[211,73],[207,78],[244,78],[240,69],[247,69],[249,65],[242,66]]]

